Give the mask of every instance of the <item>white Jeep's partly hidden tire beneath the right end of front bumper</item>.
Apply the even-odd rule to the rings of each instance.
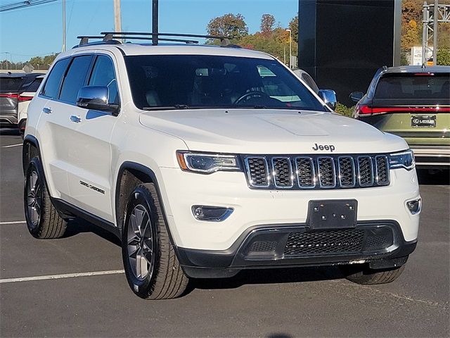
[[[340,270],[347,280],[357,284],[371,285],[394,282],[403,273],[404,268],[405,265],[401,265],[396,268],[373,270],[367,266],[342,265]]]

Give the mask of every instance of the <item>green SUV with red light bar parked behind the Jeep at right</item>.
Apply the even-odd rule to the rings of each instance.
[[[419,168],[450,168],[450,67],[381,68],[357,101],[354,118],[406,139]]]

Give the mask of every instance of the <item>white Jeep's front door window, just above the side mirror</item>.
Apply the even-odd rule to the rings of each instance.
[[[114,64],[108,56],[98,56],[92,70],[89,86],[105,86],[109,89],[110,104],[119,104],[119,92],[115,78]]]

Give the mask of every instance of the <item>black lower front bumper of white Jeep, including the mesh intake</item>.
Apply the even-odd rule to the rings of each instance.
[[[177,248],[189,277],[232,277],[249,268],[368,263],[392,268],[406,263],[416,241],[406,242],[392,220],[361,222],[352,229],[311,230],[306,224],[252,227],[227,250]]]

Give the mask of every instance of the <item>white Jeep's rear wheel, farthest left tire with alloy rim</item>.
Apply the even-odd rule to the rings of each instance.
[[[39,239],[63,237],[67,223],[51,203],[38,157],[32,158],[28,165],[23,199],[25,220],[33,237]]]

